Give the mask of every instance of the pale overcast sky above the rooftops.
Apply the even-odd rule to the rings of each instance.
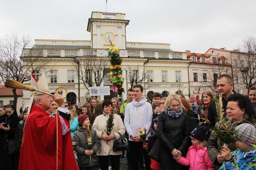
[[[107,12],[126,14],[127,41],[205,53],[237,49],[245,36],[256,37],[255,6],[255,0],[108,0]],[[106,12],[106,0],[3,0],[0,36],[90,40],[92,11]]]

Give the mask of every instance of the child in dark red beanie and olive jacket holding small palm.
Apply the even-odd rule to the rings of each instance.
[[[98,164],[97,152],[101,146],[100,139],[96,131],[89,128],[90,120],[87,115],[80,115],[78,123],[79,128],[73,135],[73,142],[78,142],[78,145],[74,148],[77,153],[78,167],[80,170],[88,168],[95,170]]]

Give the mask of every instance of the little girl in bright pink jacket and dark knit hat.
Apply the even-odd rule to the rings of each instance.
[[[179,160],[175,160],[183,166],[190,166],[189,170],[215,170],[215,166],[208,156],[207,142],[204,141],[206,134],[207,130],[205,126],[195,128],[190,134],[192,146],[188,148],[186,157],[181,156]]]

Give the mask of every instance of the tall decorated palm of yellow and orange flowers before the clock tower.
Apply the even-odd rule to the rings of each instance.
[[[110,41],[111,47],[109,49],[109,60],[111,63],[111,72],[110,72],[110,81],[112,83],[113,91],[117,92],[118,95],[121,96],[123,107],[124,107],[124,100],[122,93],[125,91],[123,88],[124,79],[122,76],[122,58],[119,55],[119,49],[114,47],[112,42]],[[117,90],[116,90],[117,88]],[[116,96],[116,95],[115,95]],[[125,109],[125,108],[124,108]]]

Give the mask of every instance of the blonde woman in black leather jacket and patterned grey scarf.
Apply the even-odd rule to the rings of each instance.
[[[182,169],[175,161],[184,153],[189,141],[188,118],[183,113],[181,99],[171,94],[165,101],[165,110],[158,115],[156,134],[160,139],[160,164],[162,170]]]

